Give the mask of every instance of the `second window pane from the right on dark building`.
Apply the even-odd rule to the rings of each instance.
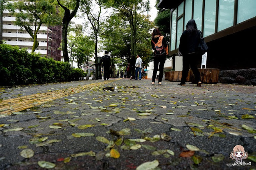
[[[234,25],[234,6],[235,0],[220,0],[218,31]]]

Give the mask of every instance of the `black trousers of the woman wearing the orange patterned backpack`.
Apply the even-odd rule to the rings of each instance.
[[[152,75],[152,82],[156,81],[156,74],[158,71],[158,66],[159,66],[159,78],[158,82],[162,82],[163,76],[164,76],[164,63],[166,60],[166,55],[159,55],[159,56],[154,56],[154,70],[153,70],[153,75]]]

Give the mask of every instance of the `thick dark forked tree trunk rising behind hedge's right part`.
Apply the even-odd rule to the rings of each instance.
[[[68,46],[67,46],[67,35],[68,25],[72,18],[76,15],[80,0],[57,0],[58,4],[64,10],[64,16],[62,18],[62,52],[65,62],[69,62],[68,58]],[[71,12],[71,11],[72,12]]]

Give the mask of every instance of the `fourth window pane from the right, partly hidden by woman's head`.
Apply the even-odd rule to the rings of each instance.
[[[203,0],[194,0],[194,20],[198,30],[202,30],[202,8]]]

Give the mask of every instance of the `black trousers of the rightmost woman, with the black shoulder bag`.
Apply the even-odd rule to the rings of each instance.
[[[198,71],[198,68],[196,66],[197,59],[198,59],[198,56],[195,53],[186,54],[183,56],[183,58],[182,58],[182,62],[183,62],[182,78],[180,81],[182,84],[185,84],[185,82],[186,82],[186,78],[188,76],[189,65],[191,67],[191,70],[192,70],[196,80],[201,81],[200,80],[200,72]]]

